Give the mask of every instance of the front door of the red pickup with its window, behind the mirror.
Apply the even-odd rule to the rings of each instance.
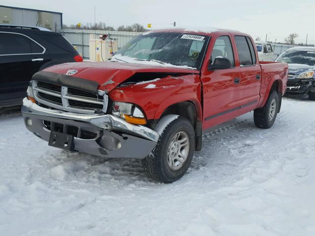
[[[212,40],[214,39],[210,66],[201,75],[204,128],[228,120],[228,114],[231,114],[230,112],[234,111],[239,103],[240,71],[235,67],[230,35],[219,36]],[[211,65],[218,57],[229,59],[232,67],[212,70]],[[206,61],[209,61],[209,58]]]

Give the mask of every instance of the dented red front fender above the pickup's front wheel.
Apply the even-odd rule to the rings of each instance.
[[[138,105],[147,119],[157,119],[163,111],[178,102],[192,101],[201,117],[199,75],[166,77],[157,81],[116,88],[109,93],[113,101]]]

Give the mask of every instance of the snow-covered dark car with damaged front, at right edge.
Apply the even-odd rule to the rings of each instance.
[[[289,64],[286,93],[309,94],[315,101],[315,47],[293,47],[275,61]]]

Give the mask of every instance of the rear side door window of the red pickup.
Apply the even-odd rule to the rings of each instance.
[[[234,39],[241,66],[255,64],[256,56],[253,50],[252,41],[245,36],[234,36]]]

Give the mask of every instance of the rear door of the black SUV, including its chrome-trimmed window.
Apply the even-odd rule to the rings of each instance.
[[[26,96],[32,75],[50,61],[45,48],[17,32],[0,32],[0,100]]]

